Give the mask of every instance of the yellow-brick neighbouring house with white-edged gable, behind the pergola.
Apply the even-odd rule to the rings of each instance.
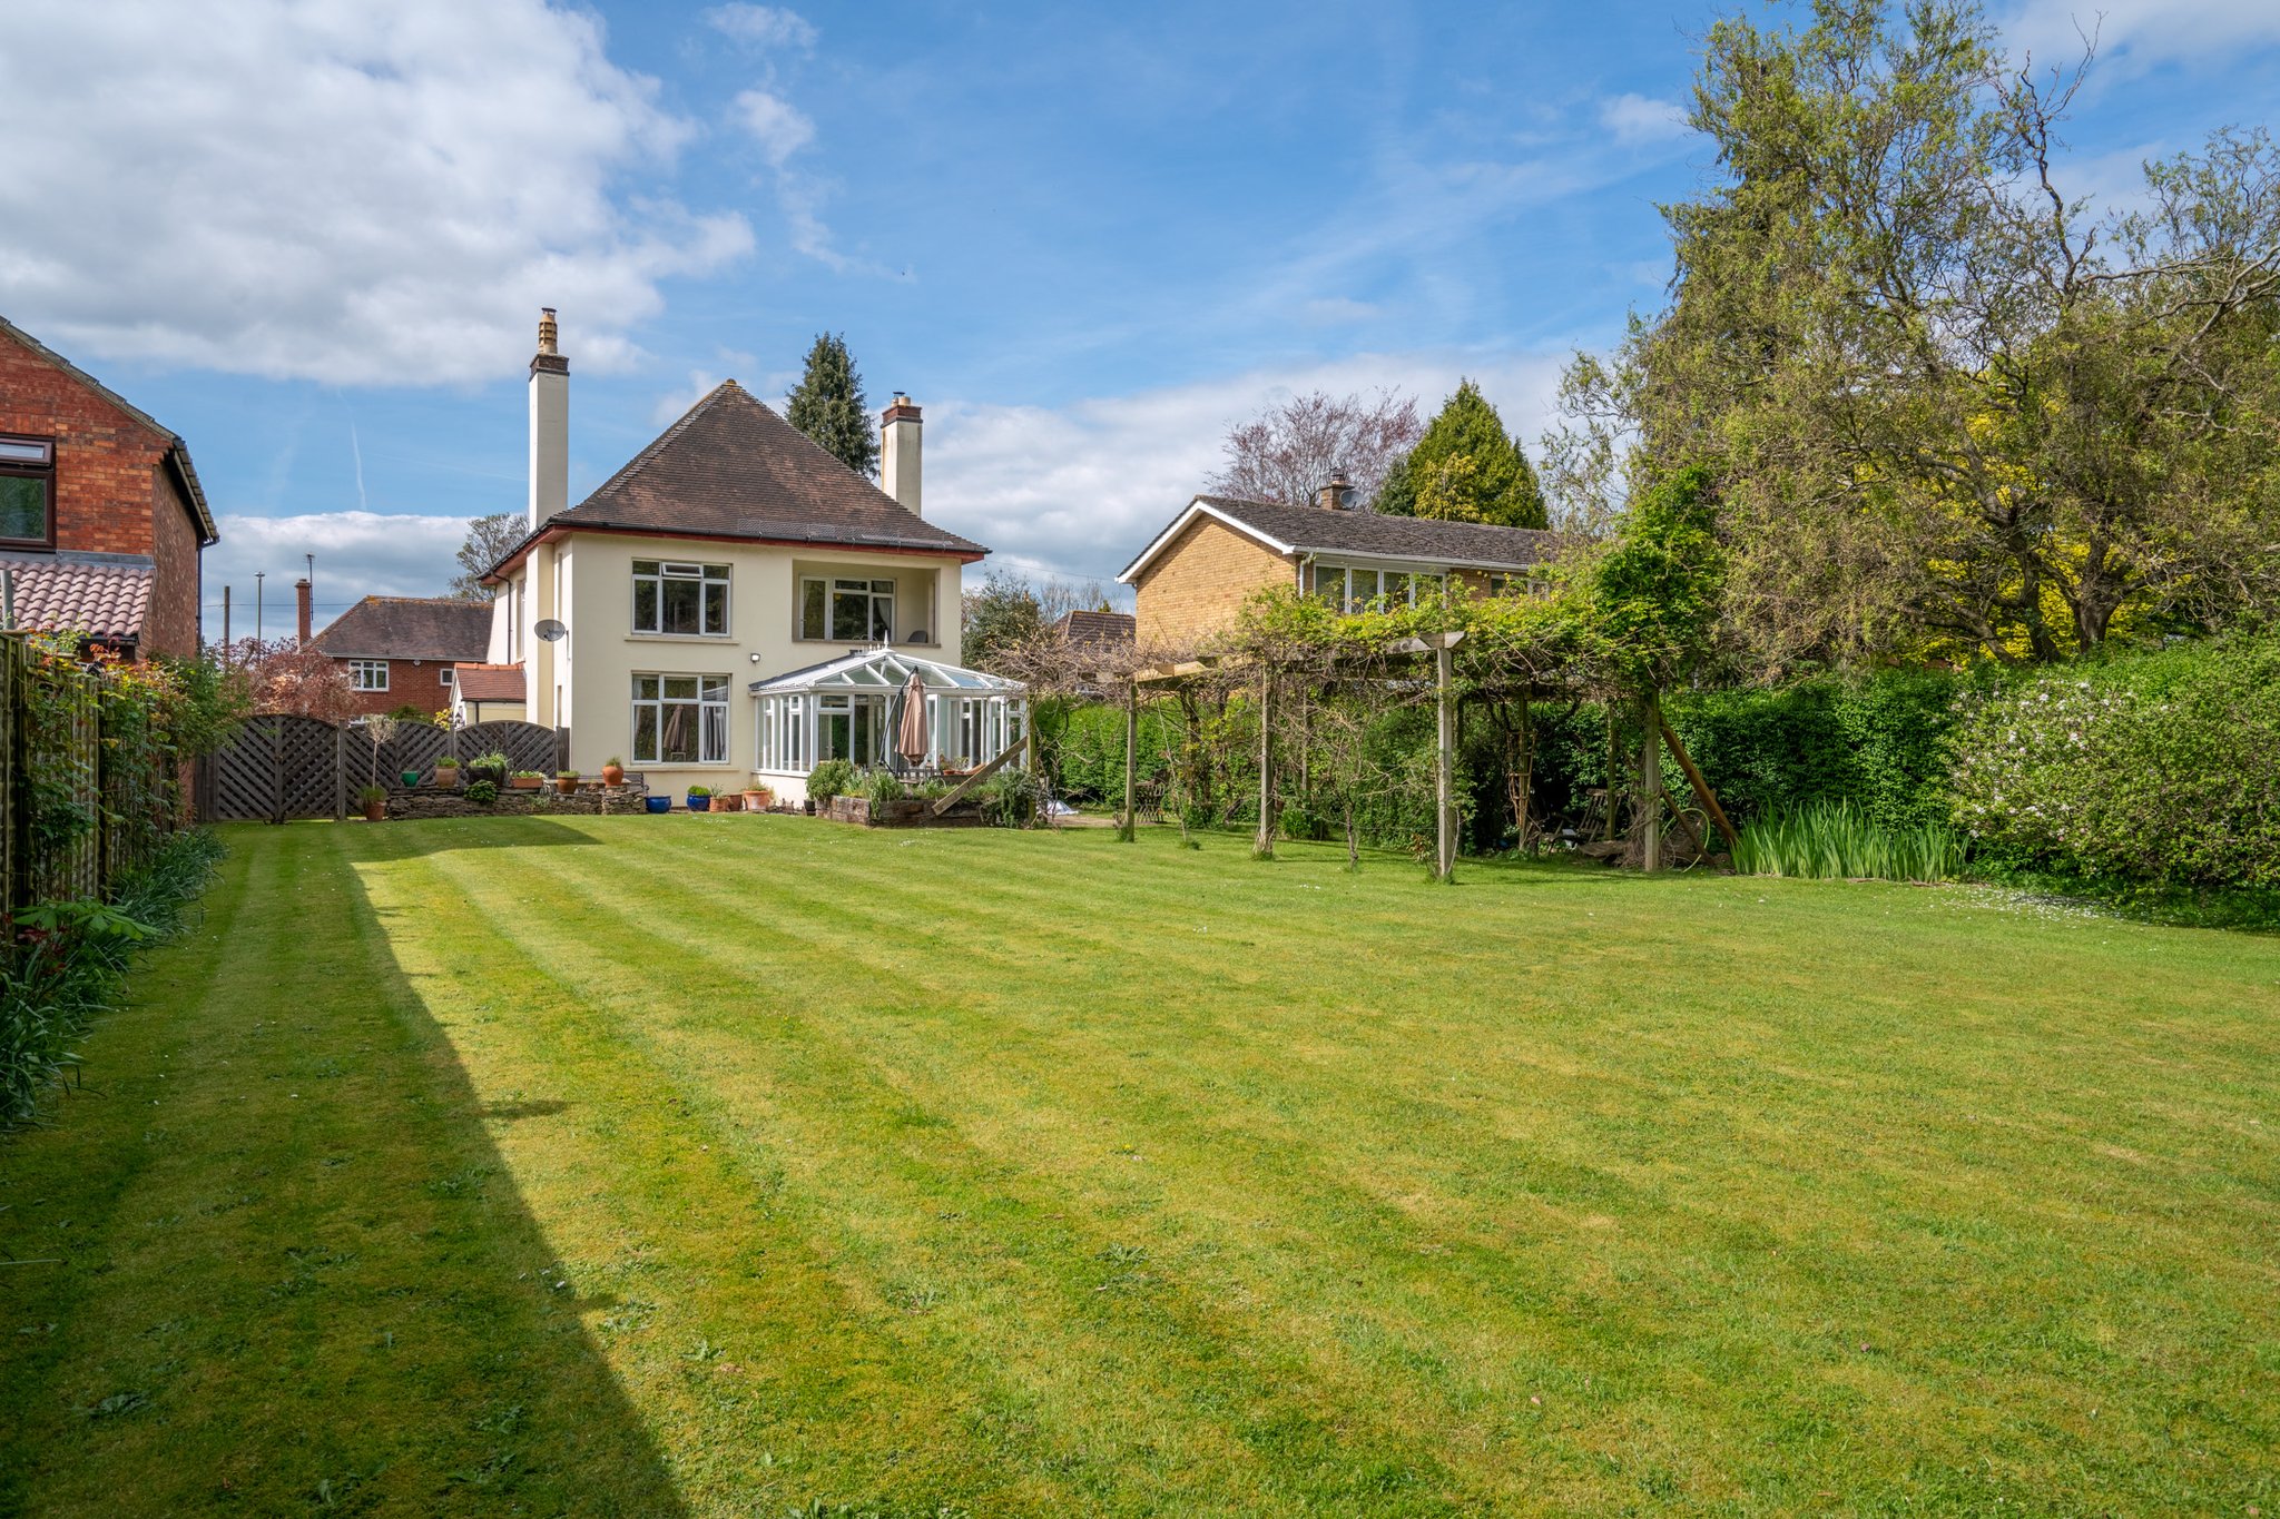
[[[1560,535],[1480,522],[1382,517],[1352,503],[1334,474],[1313,506],[1195,496],[1117,576],[1138,597],[1149,649],[1195,649],[1259,590],[1288,585],[1354,610],[1379,597],[1414,604],[1448,581],[1475,590],[1525,583]]]

